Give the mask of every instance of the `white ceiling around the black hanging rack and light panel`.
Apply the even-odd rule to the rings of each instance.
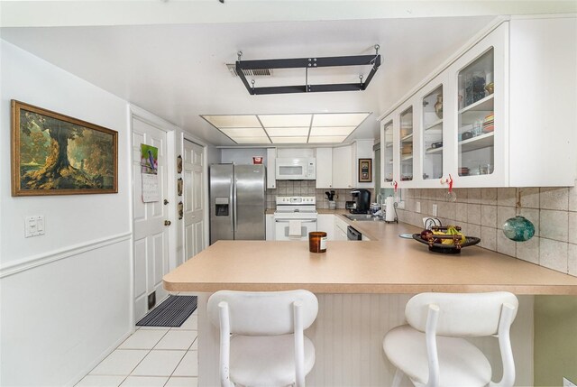
[[[384,3],[397,7],[387,13],[375,1],[2,2],[0,37],[206,143],[234,144],[200,115],[372,112],[347,140],[377,138],[377,116],[502,12],[495,5],[456,12],[462,8],[455,5],[451,11],[444,3],[463,2],[429,2],[411,8],[419,16],[411,18],[408,8],[399,8],[402,2]],[[534,2],[534,8],[541,3]],[[443,4],[443,10],[432,4]],[[117,9],[121,5],[127,8]],[[185,6],[205,8],[185,13]],[[423,11],[438,17],[424,17]],[[374,14],[383,18],[371,19]],[[440,17],[447,14],[452,16]],[[225,66],[238,51],[244,60],[350,56],[372,54],[375,44],[380,44],[381,66],[362,92],[251,96]],[[353,83],[366,71],[311,72],[309,82]],[[304,83],[304,74],[295,70],[253,78],[257,86]]]

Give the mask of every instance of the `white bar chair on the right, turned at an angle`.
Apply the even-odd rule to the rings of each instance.
[[[517,315],[515,295],[490,293],[422,293],[408,300],[408,325],[395,327],[383,340],[397,367],[393,386],[406,374],[416,386],[512,386],[515,363],[509,328]],[[462,337],[498,336],[503,363],[500,382],[491,382],[489,361]]]

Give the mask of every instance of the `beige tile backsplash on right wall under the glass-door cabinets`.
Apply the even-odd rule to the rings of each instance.
[[[422,227],[436,204],[443,225],[462,226],[466,235],[481,237],[481,247],[577,276],[577,188],[454,191],[456,202],[447,202],[446,189],[403,189],[405,209],[398,210],[398,219]],[[503,234],[505,221],[517,214],[535,225],[535,236],[527,242],[513,242]]]

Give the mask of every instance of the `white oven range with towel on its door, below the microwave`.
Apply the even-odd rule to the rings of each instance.
[[[274,212],[276,241],[307,241],[316,231],[315,197],[277,197]]]

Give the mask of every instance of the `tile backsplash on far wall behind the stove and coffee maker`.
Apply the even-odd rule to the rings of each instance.
[[[267,209],[274,209],[277,196],[314,196],[316,208],[328,208],[328,199],[325,191],[331,189],[316,189],[316,180],[277,180],[276,189],[267,189]],[[371,200],[374,201],[374,189],[371,191]],[[344,208],[344,202],[353,200],[351,189],[334,189],[337,208]]]

